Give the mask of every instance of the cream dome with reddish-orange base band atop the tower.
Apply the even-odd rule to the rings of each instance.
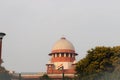
[[[75,48],[70,41],[68,41],[65,37],[62,37],[54,44],[52,48],[52,53],[56,53],[56,52],[75,53]]]

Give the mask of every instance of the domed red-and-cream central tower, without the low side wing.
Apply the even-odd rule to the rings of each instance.
[[[51,56],[50,61],[47,65],[48,74],[62,74],[61,70],[58,70],[59,67],[64,67],[65,74],[74,74],[75,73],[75,57],[78,54],[75,53],[75,48],[73,44],[68,41],[65,37],[62,37],[58,40],[49,56]]]

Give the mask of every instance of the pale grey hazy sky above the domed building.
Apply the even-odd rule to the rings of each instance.
[[[7,70],[46,72],[48,54],[62,36],[76,60],[96,46],[120,45],[120,0],[0,0],[2,59]]]

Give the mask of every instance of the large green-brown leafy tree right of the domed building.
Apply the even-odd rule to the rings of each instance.
[[[105,80],[102,78],[113,76],[116,69],[120,70],[120,46],[102,46],[88,50],[88,54],[77,63],[75,70],[80,80]]]

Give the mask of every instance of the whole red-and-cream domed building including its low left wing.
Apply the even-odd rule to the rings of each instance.
[[[47,74],[53,80],[61,80],[63,77],[74,78],[76,56],[73,44],[65,37],[60,38],[52,47],[48,54],[50,60],[46,64],[47,71],[40,73],[12,73],[13,80],[43,80]]]

